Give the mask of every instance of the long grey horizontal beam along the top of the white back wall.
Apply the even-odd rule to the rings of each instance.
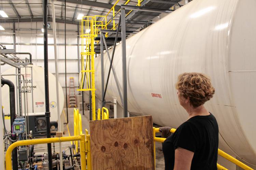
[[[43,18],[16,18],[16,19],[0,19],[0,23],[4,23],[4,22],[41,22],[43,21]],[[48,21],[52,22],[53,19],[51,17],[48,17]],[[64,19],[56,19],[56,22],[60,22],[60,23],[64,23],[65,20]],[[79,21],[71,21],[71,20],[66,20],[66,23],[70,23],[70,24],[76,24],[79,25]]]

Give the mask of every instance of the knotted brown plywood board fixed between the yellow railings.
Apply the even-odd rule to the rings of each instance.
[[[152,116],[90,121],[93,170],[152,170]]]

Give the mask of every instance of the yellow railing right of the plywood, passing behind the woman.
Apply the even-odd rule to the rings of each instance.
[[[172,128],[170,129],[171,133],[174,133],[176,131],[176,129]],[[159,138],[156,137],[156,133],[160,132],[159,128],[153,128],[153,136],[154,136],[154,154],[156,155],[156,151],[155,151],[155,142],[164,142],[166,138]],[[225,153],[224,151],[218,149],[218,154],[224,158],[226,158],[227,160],[229,160],[230,162],[236,164],[237,166],[239,166],[240,168],[246,169],[246,170],[253,170],[252,168],[248,167],[247,165],[245,165],[244,163],[240,162],[239,160],[237,160],[236,158],[230,156],[229,154]],[[223,166],[217,164],[217,168],[218,170],[224,170],[226,168],[224,168]]]

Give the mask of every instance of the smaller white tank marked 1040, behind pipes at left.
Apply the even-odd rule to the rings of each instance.
[[[32,74],[31,74],[31,67],[32,67]],[[44,68],[34,65],[29,65],[26,68],[21,67],[21,73],[24,74],[25,78],[25,86],[30,92],[27,93],[27,104],[28,104],[28,113],[29,115],[44,115],[45,113],[45,92],[44,92]],[[4,74],[16,74],[16,68],[12,67],[2,73]],[[49,77],[49,105],[50,105],[50,112],[51,112],[51,121],[58,120],[57,114],[57,93],[56,93],[56,79],[55,76],[48,72]],[[16,76],[3,76],[4,79],[8,79],[13,82],[16,87]],[[17,81],[18,83],[18,81]],[[26,84],[27,83],[27,84]],[[32,84],[33,84],[33,103],[32,103]],[[23,78],[21,77],[21,85],[22,90],[24,90]],[[17,108],[17,95],[18,90],[15,88],[15,107],[16,107],[16,114],[19,114],[19,108]],[[64,94],[59,84],[59,97],[60,97],[60,111],[62,112],[64,106]],[[4,106],[4,113],[10,114],[10,100],[9,100],[9,87],[4,85],[2,87],[2,105]],[[34,109],[34,111],[33,111]],[[22,92],[22,113],[24,115],[24,93]],[[60,113],[61,114],[61,113]],[[8,127],[6,127],[8,128]]]

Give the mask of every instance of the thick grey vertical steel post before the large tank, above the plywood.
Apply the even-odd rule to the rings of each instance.
[[[128,117],[125,8],[121,8],[120,18],[121,18],[121,22],[122,22],[121,35],[122,35],[122,68],[123,68],[123,108],[124,108],[124,117]]]

